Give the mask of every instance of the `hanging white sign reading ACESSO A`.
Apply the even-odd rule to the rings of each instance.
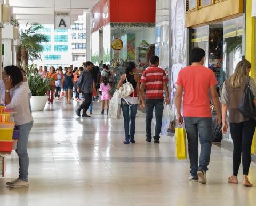
[[[55,12],[54,29],[70,29],[70,12]]]

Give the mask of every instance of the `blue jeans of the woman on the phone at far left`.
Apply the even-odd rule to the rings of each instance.
[[[19,138],[17,142],[16,153],[19,156],[20,175],[19,178],[23,181],[28,181],[28,135],[33,127],[33,121],[15,126],[19,130]]]

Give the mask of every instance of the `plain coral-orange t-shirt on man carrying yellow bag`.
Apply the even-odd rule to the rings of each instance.
[[[176,82],[183,87],[183,116],[211,117],[210,87],[217,85],[214,72],[205,66],[183,68]]]

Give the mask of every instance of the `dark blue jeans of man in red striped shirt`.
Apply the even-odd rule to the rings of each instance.
[[[164,109],[163,99],[146,99],[146,137],[152,139],[151,127],[153,118],[153,109],[155,108],[156,113],[156,127],[155,127],[155,138],[160,138],[160,132],[162,127],[162,117]]]

